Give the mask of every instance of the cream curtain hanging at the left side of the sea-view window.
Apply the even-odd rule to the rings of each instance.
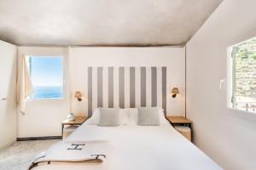
[[[18,68],[17,103],[21,113],[26,112],[26,97],[33,93],[32,81],[26,65],[26,56],[22,56]]]

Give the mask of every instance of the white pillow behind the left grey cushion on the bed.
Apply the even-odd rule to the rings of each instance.
[[[92,116],[86,121],[88,125],[97,125],[100,122],[100,111],[96,108]],[[130,124],[130,109],[120,109],[119,110],[119,125]]]

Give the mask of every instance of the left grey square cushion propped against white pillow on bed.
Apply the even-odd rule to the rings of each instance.
[[[119,109],[116,108],[100,108],[100,127],[116,127],[119,126]]]

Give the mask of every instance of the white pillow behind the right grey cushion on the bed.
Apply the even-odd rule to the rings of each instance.
[[[162,108],[159,108],[159,114],[160,114],[160,124],[169,124],[166,120],[164,110]],[[137,108],[130,108],[130,124],[131,125],[137,125],[138,122],[138,109]]]

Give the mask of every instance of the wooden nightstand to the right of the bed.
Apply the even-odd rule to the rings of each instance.
[[[186,139],[191,141],[191,121],[183,116],[166,116],[172,126],[181,133]]]

